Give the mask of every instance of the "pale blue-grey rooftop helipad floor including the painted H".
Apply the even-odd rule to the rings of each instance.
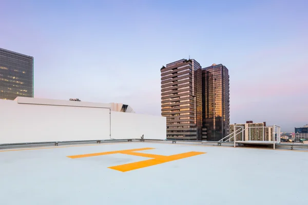
[[[184,144],[0,147],[1,204],[307,204],[307,150]]]

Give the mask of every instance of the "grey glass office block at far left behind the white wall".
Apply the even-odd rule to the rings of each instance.
[[[33,57],[0,48],[0,99],[33,97]]]

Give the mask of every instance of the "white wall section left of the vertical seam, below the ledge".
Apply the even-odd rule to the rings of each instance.
[[[109,109],[0,100],[0,144],[109,139]]]

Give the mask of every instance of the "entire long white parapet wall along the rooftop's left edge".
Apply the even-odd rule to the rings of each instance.
[[[111,111],[110,104],[0,99],[0,145],[50,141],[166,138],[166,118]]]

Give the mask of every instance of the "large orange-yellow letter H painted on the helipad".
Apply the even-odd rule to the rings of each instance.
[[[108,167],[109,169],[118,170],[120,172],[128,172],[128,171],[131,171],[131,170],[137,170],[137,169],[141,169],[141,168],[145,168],[145,167],[150,167],[150,166],[153,166],[153,165],[159,165],[160,163],[165,163],[165,162],[168,162],[168,161],[174,161],[174,160],[183,159],[183,158],[187,158],[187,157],[206,153],[206,152],[186,152],[186,153],[181,153],[181,154],[164,156],[164,155],[146,154],[146,153],[136,152],[136,151],[152,150],[152,149],[155,149],[155,148],[119,150],[119,151],[100,152],[100,153],[93,153],[93,154],[73,155],[73,156],[67,156],[67,157],[75,159],[75,158],[82,158],[82,157],[93,157],[93,156],[107,155],[107,154],[128,154],[128,155],[152,158],[152,159],[148,159],[148,160],[144,160],[144,161],[137,161],[137,162],[132,162],[132,163],[126,163],[124,165]]]

